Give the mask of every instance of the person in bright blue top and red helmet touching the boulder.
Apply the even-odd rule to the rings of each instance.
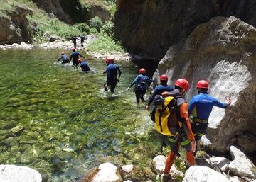
[[[213,109],[213,106],[219,108],[227,108],[230,106],[231,100],[227,98],[225,103],[218,101],[208,95],[208,82],[200,80],[196,84],[198,95],[193,96],[188,106],[188,115],[191,115],[191,127],[196,142],[198,142],[203,135],[206,134],[208,125],[208,118]],[[196,147],[197,152],[198,147]],[[196,152],[194,155],[196,156]]]

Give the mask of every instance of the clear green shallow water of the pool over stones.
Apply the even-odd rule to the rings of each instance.
[[[117,62],[122,76],[112,95],[102,88],[102,59],[87,57],[95,73],[83,74],[54,64],[60,52],[0,52],[0,164],[31,166],[44,181],[75,180],[104,161],[151,166],[161,140],[146,105],[125,91],[138,68]]]

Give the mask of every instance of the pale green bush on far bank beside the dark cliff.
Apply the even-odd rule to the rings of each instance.
[[[111,36],[100,33],[99,38],[94,40],[88,45],[87,50],[90,52],[125,52],[124,47],[117,40],[114,40]]]

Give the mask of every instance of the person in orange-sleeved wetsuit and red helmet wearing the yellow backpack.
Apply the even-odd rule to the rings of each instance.
[[[176,103],[174,104],[174,117],[176,118],[176,122],[174,121],[174,117],[170,120],[168,125],[168,129],[170,135],[168,136],[171,152],[166,159],[166,166],[164,169],[164,175],[162,177],[163,182],[167,182],[171,180],[170,169],[174,164],[174,160],[177,156],[179,156],[179,146],[186,149],[186,159],[188,161],[189,166],[193,166],[196,161],[193,156],[193,152],[196,150],[196,140],[193,136],[193,132],[191,130],[191,123],[188,118],[188,103],[183,98],[186,91],[188,91],[189,84],[186,79],[178,79],[174,83],[175,88],[174,91],[171,92],[163,92],[163,97],[174,97]],[[171,97],[169,97],[171,99]],[[170,108],[171,109],[171,108]]]

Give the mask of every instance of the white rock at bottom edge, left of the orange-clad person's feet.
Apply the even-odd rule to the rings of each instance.
[[[92,178],[92,182],[119,182],[122,181],[119,176],[117,176],[117,166],[106,162],[100,164],[99,171]]]

